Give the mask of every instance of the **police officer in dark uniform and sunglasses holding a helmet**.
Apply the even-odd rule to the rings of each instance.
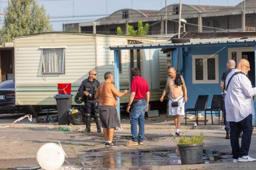
[[[101,120],[98,111],[98,101],[94,99],[97,88],[100,83],[96,80],[97,72],[96,70],[89,71],[89,78],[82,81],[78,92],[84,93],[84,108],[83,113],[86,118],[86,129],[84,132],[91,132],[91,115],[94,114],[95,123],[97,126],[97,132],[101,132]]]

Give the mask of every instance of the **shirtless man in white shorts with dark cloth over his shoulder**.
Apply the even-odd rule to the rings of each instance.
[[[168,68],[168,76],[169,77],[167,78],[166,86],[163,90],[160,101],[163,102],[163,98],[167,93],[169,101],[169,114],[174,116],[174,124],[176,126],[175,135],[179,136],[181,133],[180,115],[184,115],[184,104],[187,102],[187,89],[183,77],[176,74],[174,67]],[[175,106],[175,102],[178,102],[178,105]]]

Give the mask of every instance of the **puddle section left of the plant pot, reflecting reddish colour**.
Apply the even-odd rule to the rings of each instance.
[[[79,158],[83,167],[146,167],[180,164],[178,150],[136,150],[136,151],[90,150]]]

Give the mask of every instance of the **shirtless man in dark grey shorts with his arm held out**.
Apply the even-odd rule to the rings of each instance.
[[[99,111],[101,117],[101,126],[106,140],[105,147],[118,147],[113,143],[115,127],[120,127],[119,117],[117,115],[117,99],[128,93],[127,90],[119,92],[114,86],[114,76],[111,72],[104,74],[105,81],[98,87],[95,99],[99,99]]]

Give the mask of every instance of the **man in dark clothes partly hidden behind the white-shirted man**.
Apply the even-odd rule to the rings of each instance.
[[[227,78],[227,75],[229,74],[232,69],[236,67],[236,62],[234,60],[228,60],[227,62],[227,71],[223,72],[222,77],[221,77],[221,90],[222,90],[222,113],[224,116],[224,124],[225,124],[225,130],[226,130],[226,137],[225,139],[230,139],[230,127],[229,127],[229,122],[227,122],[226,119],[226,110],[225,110],[225,94],[226,94],[226,87],[225,87],[225,81]]]

